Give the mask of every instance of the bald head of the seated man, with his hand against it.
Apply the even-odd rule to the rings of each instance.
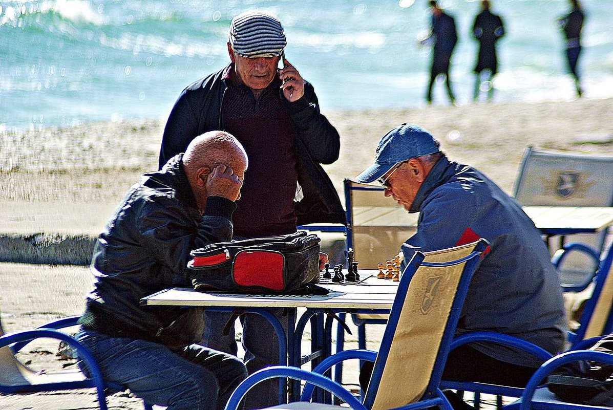
[[[183,169],[201,210],[209,195],[230,200],[240,197],[247,165],[245,148],[223,131],[199,135],[183,154]]]

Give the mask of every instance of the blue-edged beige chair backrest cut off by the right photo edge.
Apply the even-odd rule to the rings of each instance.
[[[613,333],[613,243],[594,277],[592,296],[585,302],[574,343]]]

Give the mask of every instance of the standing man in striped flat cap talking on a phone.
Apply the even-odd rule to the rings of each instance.
[[[345,222],[338,194],[319,164],[337,160],[340,137],[319,111],[313,86],[283,59],[286,37],[280,21],[249,11],[230,23],[230,64],[189,85],[172,108],[159,154],[162,167],[189,141],[205,131],[234,135],[249,158],[248,178],[234,212],[235,238],[295,232],[297,225]],[[287,321],[282,311],[282,322]],[[203,343],[236,354],[229,316],[207,314]],[[276,336],[270,324],[246,315],[243,344],[250,372],[278,364]],[[277,401],[277,381],[263,383],[247,398],[247,408]]]

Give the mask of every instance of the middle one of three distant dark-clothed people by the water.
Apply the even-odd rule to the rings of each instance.
[[[481,12],[474,19],[473,37],[479,42],[479,55],[474,67],[474,101],[478,101],[481,91],[487,92],[487,101],[493,96],[493,75],[498,72],[496,43],[504,36],[504,24],[500,16],[490,12],[490,1],[481,0]]]

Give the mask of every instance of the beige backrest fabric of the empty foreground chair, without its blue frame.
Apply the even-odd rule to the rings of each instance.
[[[471,243],[428,252],[425,262],[457,260],[468,256],[475,246],[476,243]],[[424,395],[464,265],[417,269],[409,284],[372,410],[403,406]],[[377,361],[379,357],[380,352]]]

